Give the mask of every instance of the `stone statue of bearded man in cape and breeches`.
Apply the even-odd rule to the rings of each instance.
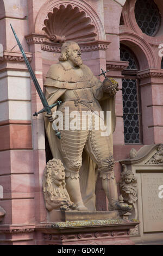
[[[112,86],[114,85],[114,86]],[[82,113],[90,111],[98,115],[100,111],[111,111],[111,133],[101,136],[100,129],[95,129],[95,118],[92,129],[89,122],[84,123],[84,129],[63,127],[61,139],[55,136],[52,128],[53,115],[45,114],[45,127],[53,157],[60,159],[65,167],[66,189],[71,201],[76,204],[76,210],[95,210],[96,174],[100,172],[102,186],[109,200],[109,209],[129,210],[129,206],[118,202],[117,185],[113,172],[112,132],[115,128],[115,94],[118,84],[114,80],[104,80],[102,83],[90,68],[83,64],[80,47],[76,42],[65,42],[61,47],[59,63],[50,67],[47,72],[46,99],[48,104],[61,100],[57,111],[63,115],[63,122],[72,117],[68,113],[78,111],[79,119]],[[111,88],[110,88],[111,87]],[[102,101],[101,101],[102,100]],[[101,103],[102,102],[102,103]],[[52,111],[56,111],[55,108]],[[79,170],[82,173],[79,178]],[[94,205],[94,206],[93,206]]]

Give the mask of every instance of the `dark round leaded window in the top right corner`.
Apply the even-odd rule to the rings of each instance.
[[[153,0],[137,0],[135,19],[142,32],[154,36],[160,27],[161,16]]]

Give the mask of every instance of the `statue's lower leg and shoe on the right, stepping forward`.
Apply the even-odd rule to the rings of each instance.
[[[109,200],[109,210],[131,211],[133,207],[118,201],[118,192],[113,172],[101,172],[102,187]]]

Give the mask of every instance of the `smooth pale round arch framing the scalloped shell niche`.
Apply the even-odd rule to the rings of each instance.
[[[66,8],[67,5],[71,5],[74,9],[76,7],[79,8],[79,11],[84,11],[85,16],[91,19],[92,24],[95,26],[95,32],[97,33],[97,40],[106,40],[105,31],[102,25],[101,20],[99,19],[95,10],[93,10],[89,4],[84,1],[73,0],[72,1],[63,1],[57,0],[48,0],[45,4],[42,5],[39,14],[37,14],[36,21],[35,21],[35,33],[36,34],[44,34],[45,32],[42,31],[42,28],[45,27],[44,21],[48,19],[48,14],[53,13],[54,8],[60,8],[61,5],[64,5]]]

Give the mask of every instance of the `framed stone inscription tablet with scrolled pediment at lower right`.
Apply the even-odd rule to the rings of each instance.
[[[130,159],[120,161],[137,180],[135,209],[140,221],[131,230],[138,244],[163,243],[163,144],[144,145],[139,151],[131,149]],[[134,213],[131,212],[131,217]]]

